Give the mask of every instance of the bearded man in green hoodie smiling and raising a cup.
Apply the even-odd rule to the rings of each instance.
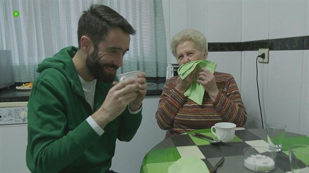
[[[28,102],[31,172],[112,172],[115,141],[130,141],[142,119],[145,73],[119,82],[115,73],[135,30],[104,5],[83,12],[79,48],[38,65]]]

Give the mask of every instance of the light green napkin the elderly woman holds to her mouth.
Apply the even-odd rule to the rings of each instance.
[[[198,105],[202,105],[205,89],[201,83],[197,82],[199,73],[201,72],[201,68],[206,68],[211,73],[214,73],[217,64],[208,60],[190,61],[178,68],[178,75],[181,79],[184,79],[196,68],[197,65],[199,65],[197,76],[193,79],[189,88],[184,92],[184,96],[188,97]]]

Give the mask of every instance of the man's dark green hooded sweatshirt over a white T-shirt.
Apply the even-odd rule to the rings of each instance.
[[[27,166],[31,172],[106,172],[111,166],[115,141],[130,141],[141,111],[128,108],[109,122],[102,136],[86,118],[103,103],[112,83],[97,81],[94,111],[85,99],[72,62],[75,47],[62,49],[38,65],[28,102]]]

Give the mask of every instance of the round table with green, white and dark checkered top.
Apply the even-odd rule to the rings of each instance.
[[[203,160],[208,169],[224,157],[225,161],[218,167],[218,173],[253,172],[244,166],[243,150],[250,146],[268,147],[266,129],[237,127],[235,138],[229,145],[210,145],[208,141],[192,136],[194,133],[214,137],[208,128],[164,139],[145,155],[140,172],[167,172],[168,167],[179,158],[189,156]],[[282,151],[277,152],[276,168],[272,172],[291,171],[288,148],[292,144],[309,145],[309,137],[287,132]]]

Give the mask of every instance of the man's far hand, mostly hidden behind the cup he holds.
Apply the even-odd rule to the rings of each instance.
[[[142,101],[144,100],[146,93],[147,93],[147,84],[146,84],[146,73],[140,72],[138,73],[138,96],[134,101],[130,103],[130,110],[131,111],[137,111],[142,106]]]

